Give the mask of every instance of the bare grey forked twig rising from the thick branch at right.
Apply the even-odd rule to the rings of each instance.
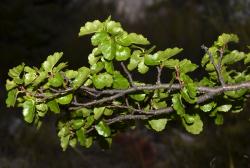
[[[218,79],[219,79],[221,85],[225,86],[225,82],[224,82],[223,76],[221,75],[221,60],[222,60],[222,57],[223,57],[223,52],[220,52],[220,58],[219,58],[218,64],[216,65],[215,61],[214,61],[214,58],[213,58],[213,55],[209,51],[209,49],[205,45],[202,45],[201,48],[203,50],[205,50],[205,52],[208,54],[210,62],[213,64],[213,66],[215,68],[216,74],[218,76]]]

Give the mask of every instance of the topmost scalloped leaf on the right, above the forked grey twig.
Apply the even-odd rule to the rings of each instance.
[[[226,33],[223,33],[222,35],[220,35],[218,37],[218,40],[214,44],[217,45],[217,46],[222,47],[222,46],[225,46],[229,42],[238,43],[239,42],[238,36],[235,35],[235,34],[226,34]]]

